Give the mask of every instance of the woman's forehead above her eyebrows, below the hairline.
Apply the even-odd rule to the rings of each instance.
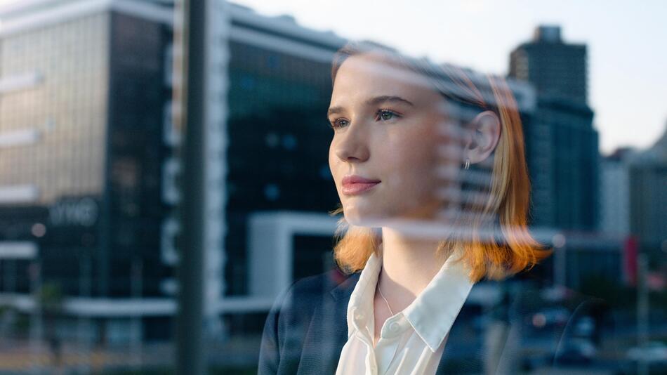
[[[338,68],[331,101],[401,95],[414,100],[439,97],[428,80],[376,53],[352,55]]]

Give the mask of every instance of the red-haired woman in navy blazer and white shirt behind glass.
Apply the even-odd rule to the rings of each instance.
[[[341,199],[334,213],[344,215],[334,257],[351,276],[309,277],[278,298],[260,374],[488,369],[487,360],[446,363],[471,287],[548,256],[527,232],[511,91],[502,79],[364,44],[338,51],[332,79],[329,166]]]

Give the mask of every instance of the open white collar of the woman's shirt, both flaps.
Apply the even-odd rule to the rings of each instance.
[[[449,256],[421,294],[401,312],[433,353],[449,333],[473,287],[468,268],[455,260],[456,256]],[[371,253],[348,303],[348,338],[355,330],[367,327],[381,266],[382,256]]]

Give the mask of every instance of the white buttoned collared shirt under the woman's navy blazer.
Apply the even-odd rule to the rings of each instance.
[[[435,374],[473,283],[463,263],[450,256],[425,289],[383,324],[376,347],[373,300],[382,258],[371,254],[348,303],[348,341],[336,375]]]

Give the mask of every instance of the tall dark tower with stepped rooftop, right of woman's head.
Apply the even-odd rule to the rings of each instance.
[[[586,45],[567,44],[560,27],[537,27],[510,55],[509,76],[536,88],[525,129],[533,225],[597,227],[598,135],[586,98]]]

